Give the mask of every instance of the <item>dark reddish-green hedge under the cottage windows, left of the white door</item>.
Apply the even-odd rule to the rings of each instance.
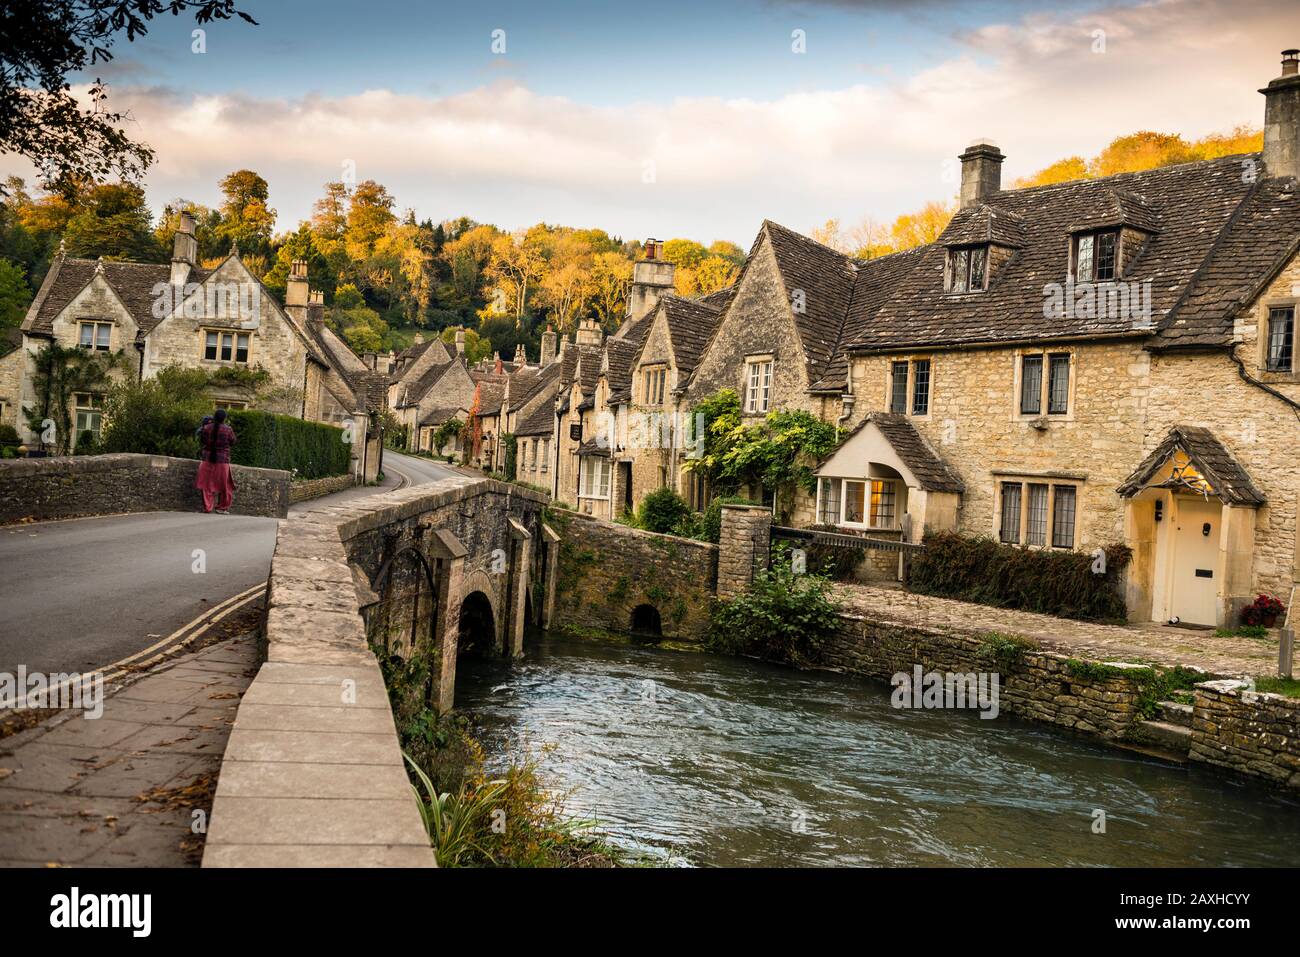
[[[907,588],[1060,618],[1123,622],[1119,573],[1132,551],[1127,545],[1108,545],[1105,553],[1105,573],[1097,575],[1093,557],[1080,551],[1026,549],[952,532],[926,536],[924,550],[911,562]]]

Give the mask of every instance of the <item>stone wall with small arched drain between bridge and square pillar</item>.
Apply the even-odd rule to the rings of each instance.
[[[559,624],[624,633],[633,610],[659,612],[664,637],[699,641],[708,629],[718,546],[556,510]]]

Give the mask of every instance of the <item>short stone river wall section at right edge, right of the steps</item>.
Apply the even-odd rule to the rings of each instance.
[[[1300,788],[1300,698],[1260,694],[1244,681],[1197,685],[1188,757]]]

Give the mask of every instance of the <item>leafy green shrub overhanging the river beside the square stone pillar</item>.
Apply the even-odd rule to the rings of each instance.
[[[833,633],[837,612],[828,579],[794,575],[780,562],[759,572],[745,594],[714,606],[707,645],[723,654],[807,664]]]

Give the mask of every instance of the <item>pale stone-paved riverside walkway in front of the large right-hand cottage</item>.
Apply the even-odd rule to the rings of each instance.
[[[966,633],[1034,638],[1050,651],[1095,661],[1193,666],[1222,676],[1277,675],[1277,632],[1268,640],[1217,638],[1213,631],[1074,622],[1032,611],[913,594],[900,588],[841,585],[845,611],[879,622],[924,624]]]

